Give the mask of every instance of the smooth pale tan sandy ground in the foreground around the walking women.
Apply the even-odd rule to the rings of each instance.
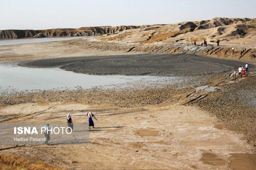
[[[251,153],[243,135],[191,106],[113,108],[26,103],[6,107],[0,113],[31,114],[15,122],[29,119],[65,122],[66,114],[71,112],[74,122],[81,122],[87,120],[85,111],[93,111],[98,117],[94,121],[96,128],[90,130],[90,144],[25,146],[5,152],[43,159],[67,169],[226,170],[234,166],[244,168],[243,164],[237,165],[241,159],[245,169],[256,167],[253,162],[256,155]],[[35,116],[38,112],[41,114]]]

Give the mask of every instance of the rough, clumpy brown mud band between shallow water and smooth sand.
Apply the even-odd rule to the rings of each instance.
[[[94,88],[74,91],[43,91],[39,93],[21,93],[0,97],[0,108],[10,105],[37,103],[45,105],[51,102],[63,104],[79,103],[87,105],[110,105],[118,108],[134,108],[155,105],[190,105],[207,111],[232,130],[244,133],[250,144],[256,144],[256,83],[255,77],[227,78],[228,75],[209,74],[197,76],[190,83],[177,83],[163,87],[107,89]],[[201,83],[198,82],[201,80]],[[195,81],[195,82],[194,82]],[[218,86],[220,90],[195,91],[198,85]],[[190,97],[191,96],[191,97]],[[201,96],[203,96],[201,98]],[[198,98],[201,98],[197,100]],[[11,117],[10,117],[11,116]],[[19,115],[15,115],[18,116]],[[14,118],[16,119],[16,117]],[[6,116],[6,121],[12,115]],[[5,122],[5,120],[3,120]],[[253,150],[256,148],[254,147]]]

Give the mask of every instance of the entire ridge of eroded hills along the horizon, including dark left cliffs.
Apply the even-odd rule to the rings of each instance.
[[[67,36],[100,36],[105,41],[130,42],[208,42],[253,45],[256,42],[256,18],[216,17],[212,20],[145,26],[99,26],[47,30],[2,30],[0,39]]]

